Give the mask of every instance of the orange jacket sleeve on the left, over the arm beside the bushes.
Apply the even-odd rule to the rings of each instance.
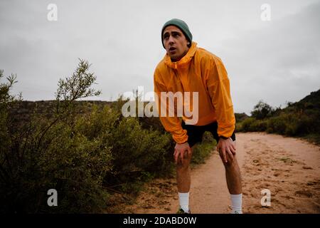
[[[174,117],[169,117],[169,105],[167,99],[161,99],[161,92],[168,92],[164,83],[159,81],[159,73],[155,71],[154,73],[154,93],[155,93],[155,101],[156,101],[156,108],[159,113],[159,118],[161,124],[164,126],[164,129],[171,133],[172,138],[177,143],[183,143],[188,141],[188,135],[186,134],[187,131],[181,127],[181,120],[176,116],[176,110],[174,111]],[[166,116],[161,117],[161,103],[164,105],[166,103]],[[164,112],[164,110],[163,110]]]

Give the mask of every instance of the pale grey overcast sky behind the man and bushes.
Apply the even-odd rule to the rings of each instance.
[[[57,21],[47,19],[49,4]],[[270,21],[261,19],[262,4]],[[283,107],[320,88],[319,0],[1,0],[0,69],[17,74],[13,92],[24,100],[53,100],[78,58],[92,63],[102,90],[89,100],[114,100],[137,86],[152,91],[165,55],[161,27],[172,18],[225,63],[236,113],[250,114],[259,100]]]

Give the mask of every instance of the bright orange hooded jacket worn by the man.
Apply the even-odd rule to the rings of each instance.
[[[161,98],[161,92],[198,92],[198,123],[207,125],[218,122],[218,135],[230,137],[235,130],[235,115],[230,95],[230,82],[223,62],[217,56],[198,48],[196,42],[178,62],[171,62],[168,54],[156,66],[154,71],[154,92]],[[184,100],[184,98],[183,98]],[[188,140],[181,120],[176,117],[159,118],[166,131],[174,140],[183,143]],[[183,114],[183,120],[187,120]]]

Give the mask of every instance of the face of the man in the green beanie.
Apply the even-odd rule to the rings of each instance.
[[[189,41],[184,36],[180,28],[176,26],[167,26],[164,28],[162,36],[166,53],[169,54],[171,61],[179,61],[188,52]]]

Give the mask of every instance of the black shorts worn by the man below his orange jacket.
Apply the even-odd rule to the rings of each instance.
[[[187,135],[188,135],[188,143],[190,147],[195,145],[197,142],[202,141],[202,135],[206,131],[210,132],[213,134],[213,138],[219,142],[219,135],[218,135],[218,123],[213,122],[208,125],[204,126],[196,126],[196,125],[186,125],[184,121],[182,121],[182,128],[187,130]],[[235,132],[233,132],[233,135],[231,135],[231,139],[235,141]]]

